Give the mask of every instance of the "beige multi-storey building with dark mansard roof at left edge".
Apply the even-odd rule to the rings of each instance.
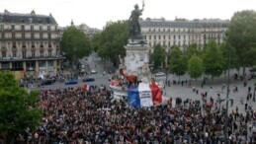
[[[0,69],[16,78],[53,76],[61,69],[59,30],[49,16],[0,13]]]

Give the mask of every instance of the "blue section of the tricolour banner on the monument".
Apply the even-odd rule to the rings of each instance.
[[[133,107],[140,107],[140,100],[138,96],[137,87],[128,88],[128,105]]]

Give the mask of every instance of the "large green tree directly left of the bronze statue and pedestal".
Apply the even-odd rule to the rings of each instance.
[[[128,21],[108,24],[97,42],[99,56],[110,59],[117,66],[119,55],[126,55],[124,45],[128,43]]]

